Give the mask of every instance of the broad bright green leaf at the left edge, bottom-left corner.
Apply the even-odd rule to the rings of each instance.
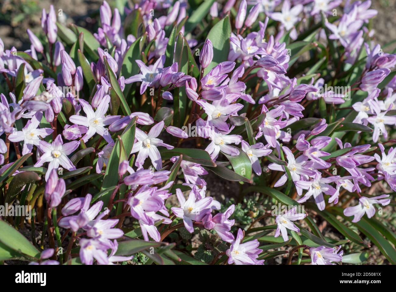
[[[0,242],[8,248],[34,259],[40,258],[40,252],[6,221],[0,220]]]

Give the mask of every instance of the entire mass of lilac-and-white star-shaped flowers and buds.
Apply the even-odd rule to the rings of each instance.
[[[219,12],[220,4],[214,2],[210,15],[212,17],[227,15],[235,6],[235,2],[236,0],[228,0],[222,6],[221,12]],[[371,156],[372,152],[369,150],[371,144],[352,147],[351,144],[343,144],[340,139],[334,138],[339,148],[348,149],[335,158],[325,160],[323,157],[329,156],[330,153],[322,149],[332,141],[329,136],[320,136],[320,133],[327,129],[326,119],[322,118],[311,129],[301,130],[294,136],[284,131],[286,127],[304,117],[303,104],[307,105],[308,102],[320,98],[324,98],[328,104],[345,102],[344,95],[336,94],[331,90],[319,93],[320,87],[324,85],[324,79],[318,79],[314,83],[312,78],[310,84],[303,84],[296,78],[287,77],[290,54],[284,42],[285,36],[288,35],[294,40],[303,30],[302,25],[296,27],[302,19],[301,15],[311,16],[313,19],[319,19],[321,15],[331,15],[332,10],[339,6],[341,1],[294,0],[290,2],[285,0],[281,12],[274,12],[280,2],[280,0],[240,1],[239,6],[236,6],[238,7],[234,26],[236,31],[230,36],[228,60],[211,66],[214,54],[213,44],[211,40],[206,39],[200,51],[201,74],[200,79],[197,80],[196,77],[180,72],[178,62],[164,67],[165,52],[169,41],[169,38],[165,37],[166,27],[184,23],[183,19],[187,12],[186,2],[176,1],[169,8],[171,4],[168,1],[143,0],[135,4],[132,10],[126,9],[126,14],[140,13],[147,40],[153,44],[146,61],[133,60],[140,68],[138,74],[120,76],[126,52],[136,41],[136,37],[127,35],[123,38],[120,12],[117,8],[112,12],[109,4],[104,1],[100,7],[101,27],[94,37],[103,47],[107,47],[110,43],[114,46],[114,51],[110,54],[108,50],[100,47],[97,49],[98,61],[90,64],[91,73],[97,82],[95,92],[89,99],[77,96],[84,86],[83,70],[81,66],[76,66],[65,51],[62,42],[57,40],[56,15],[51,6],[48,14],[45,11],[42,13],[42,29],[48,38],[49,46],[54,48],[49,62],[51,68],[61,66],[61,69],[57,70],[56,80],[51,77],[44,78],[44,71],[34,69],[29,62],[17,54],[15,48],[4,50],[4,45],[0,40],[0,71],[14,78],[17,77],[19,68],[23,65],[26,83],[22,96],[15,96],[13,92],[10,92],[9,96],[1,94],[0,134],[5,133],[7,140],[6,142],[0,140],[0,162],[5,163],[0,173],[12,165],[8,161],[9,142],[13,142],[14,145],[23,142],[22,155],[35,151],[34,167],[46,165],[48,168],[45,175],[44,196],[49,207],[55,208],[61,204],[66,192],[64,179],[58,177],[59,167],[69,171],[76,169],[69,158],[70,154],[92,137],[101,136],[100,141],[103,139],[106,143],[97,153],[96,172],[102,173],[105,165],[109,163],[110,154],[115,145],[112,133],[126,128],[129,122],[137,117],[139,127],[144,127],[149,131],[147,133],[136,128],[135,141],[130,154],[137,153],[137,157],[135,161],[120,162],[116,190],[122,185],[127,186],[127,195],[120,201],[123,209],[129,209],[130,215],[139,221],[144,240],[148,241],[148,236],[150,236],[156,242],[162,241],[163,238],[156,223],[171,224],[174,217],[178,217],[183,220],[188,232],[192,233],[194,226],[216,231],[222,240],[230,244],[226,252],[228,263],[263,264],[264,260],[257,259],[262,252],[257,248],[259,246],[257,240],[242,243],[244,233],[241,229],[238,230],[236,237],[230,232],[234,220],[229,218],[234,212],[234,205],[224,213],[212,214],[221,206],[212,197],[206,196],[207,184],[204,176],[208,172],[200,164],[181,161],[180,168],[184,175],[184,185],[189,186],[191,191],[186,200],[182,191],[176,190],[180,207],[171,208],[174,217],[169,214],[164,202],[172,195],[169,190],[173,181],[169,181],[170,171],[162,170],[163,159],[158,148],[165,147],[171,150],[174,146],[164,143],[158,137],[164,128],[167,133],[176,138],[185,139],[188,136],[179,127],[166,126],[164,121],[154,121],[148,113],[133,112],[126,116],[108,114],[113,106],[108,94],[109,88],[112,87],[106,72],[108,64],[111,71],[116,76],[120,76],[118,85],[121,90],[133,83],[139,87],[140,94],[145,94],[148,88],[154,88],[161,93],[161,95],[158,94],[160,101],[162,99],[172,101],[173,90],[176,88],[185,90],[186,96],[192,102],[192,108],[198,108],[197,112],[192,110],[188,121],[200,126],[201,130],[198,134],[204,141],[208,140],[205,150],[213,161],[216,161],[220,153],[238,156],[240,150],[234,145],[240,144],[242,151],[251,161],[253,171],[260,176],[262,174],[261,158],[276,150],[279,158],[281,153],[285,154],[287,166],[277,163],[268,165],[268,168],[273,171],[284,172],[284,175],[278,176],[280,178],[274,183],[274,187],[283,186],[288,181],[288,176],[291,175],[297,194],[301,196],[297,202],[306,202],[313,196],[319,210],[324,210],[326,207],[324,194],[330,196],[328,203],[337,204],[343,188],[351,193],[356,192],[360,197],[358,205],[344,209],[346,216],[354,216],[352,222],[358,222],[364,213],[369,218],[373,217],[375,215],[374,204],[383,206],[389,204],[389,195],[361,196],[361,186],[371,186],[371,183],[375,181],[373,176],[377,176],[377,180],[385,180],[390,188],[396,191],[394,160],[396,148],[391,147],[386,154],[383,144],[378,144],[382,157],[378,154]],[[249,13],[247,13],[247,4],[253,5]],[[326,22],[326,27],[331,31],[329,39],[339,40],[345,49],[341,56],[341,60],[345,63],[354,64],[360,52],[359,48],[364,43],[364,34],[373,35],[373,32],[368,31],[364,26],[364,23],[377,13],[369,9],[370,4],[370,1],[353,3],[348,1],[337,25]],[[168,14],[158,18],[154,18],[151,13],[153,9],[168,8]],[[263,12],[267,17],[264,22],[258,22],[258,31],[244,34],[254,23],[257,23],[259,13]],[[270,35],[267,38],[267,25],[270,19],[280,22],[280,28],[276,35]],[[185,27],[182,26],[181,33],[184,29]],[[25,53],[36,61],[39,60],[37,53],[47,58],[39,38],[30,30],[27,33],[31,46],[30,50]],[[316,39],[318,41],[326,39],[324,29],[318,33]],[[190,48],[198,46],[194,38],[188,39],[187,42]],[[380,135],[387,139],[388,133],[385,125],[396,125],[396,116],[390,115],[389,112],[395,107],[396,94],[393,90],[396,88],[396,79],[392,79],[382,92],[377,87],[390,74],[390,69],[396,65],[396,55],[383,53],[378,44],[365,42],[364,46],[367,52],[367,63],[361,79],[356,81],[356,90],[360,88],[367,92],[368,96],[362,102],[353,104],[353,109],[358,112],[353,122],[373,125],[373,142],[376,143]],[[253,77],[257,78],[259,83],[265,82],[267,85],[267,89],[259,98],[256,98],[257,95],[251,96],[245,93],[246,82]],[[76,90],[64,94],[59,86],[74,86]],[[65,102],[72,105],[74,114],[68,118],[63,131],[57,133],[57,117]],[[262,142],[251,143],[243,140],[242,136],[231,133],[235,126],[229,118],[241,115],[242,109],[249,107],[249,104],[256,103],[260,104],[257,114],[265,113],[265,119],[259,125],[254,137],[257,140],[261,139]],[[24,126],[18,128],[17,124]],[[43,127],[44,124],[51,127]],[[202,129],[208,129],[208,131]],[[46,142],[44,138],[51,134],[53,135],[52,142]],[[64,142],[64,140],[69,142]],[[293,140],[296,141],[295,144],[291,144]],[[287,143],[290,147],[282,146]],[[147,158],[150,158],[153,169],[145,169],[144,165],[150,165],[149,161],[146,161]],[[170,160],[177,163],[178,159],[179,156],[174,156]],[[367,167],[368,163],[374,159],[377,161],[376,167]],[[349,175],[332,175],[327,171],[331,166],[343,168]],[[158,184],[162,186],[158,187]],[[306,190],[305,194],[303,194],[304,190]],[[91,204],[91,194],[87,194],[84,198],[73,198],[62,208],[63,217],[59,220],[60,227],[74,233],[80,229],[84,230],[82,234],[77,235],[81,261],[85,264],[92,264],[95,259],[98,264],[112,264],[131,259],[131,257],[115,255],[118,247],[116,239],[121,238],[124,232],[120,229],[121,219],[109,218],[113,202],[110,202],[109,208],[105,211],[102,211],[103,201],[98,201],[92,206]],[[292,221],[303,219],[306,215],[296,213],[295,208],[286,214],[278,215],[276,217],[278,228],[275,236],[282,234],[283,239],[287,241],[287,229],[299,231]],[[87,238],[80,237],[80,235]],[[112,251],[110,255],[107,252],[109,249]],[[340,248],[333,250],[324,246],[311,248],[312,263],[334,264],[335,261],[341,261],[342,252],[339,250]],[[53,252],[53,249],[45,250],[40,259],[51,257]],[[40,263],[58,262],[48,260],[40,261]]]

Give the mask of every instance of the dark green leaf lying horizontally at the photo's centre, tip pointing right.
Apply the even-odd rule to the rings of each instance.
[[[215,167],[216,163],[210,158],[209,153],[202,149],[192,149],[192,148],[173,148],[168,150],[163,148],[160,150],[162,159],[169,159],[173,156],[179,156],[183,154],[183,160],[195,162],[205,166]]]

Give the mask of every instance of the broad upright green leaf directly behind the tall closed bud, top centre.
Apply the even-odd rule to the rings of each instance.
[[[206,2],[208,2],[208,0],[206,0]],[[227,61],[228,51],[230,50],[230,36],[230,16],[227,14],[209,31],[207,38],[209,38],[213,44],[213,59],[209,66],[205,68],[204,75],[206,75],[217,64]]]

